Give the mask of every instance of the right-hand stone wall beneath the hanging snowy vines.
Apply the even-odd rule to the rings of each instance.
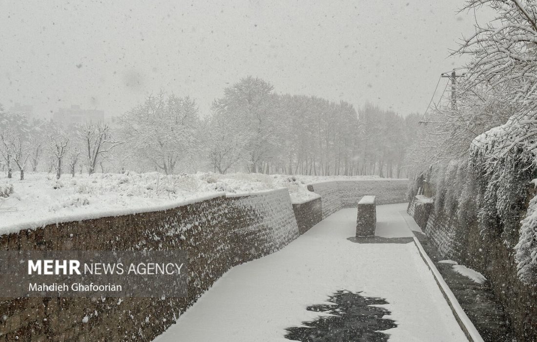
[[[490,219],[484,216],[484,219],[490,219],[490,222],[495,222],[498,226],[491,224],[487,232],[482,231],[478,224],[476,208],[471,208],[468,204],[475,202],[471,199],[480,195],[480,188],[470,176],[463,178],[468,180],[463,191],[467,193],[466,198],[470,198],[470,201],[461,203],[456,197],[447,201],[445,196],[440,196],[442,204],[436,205],[426,218],[425,234],[438,248],[442,258],[452,259],[473,268],[489,280],[496,298],[509,316],[518,341],[536,341],[537,286],[526,285],[519,280],[512,245],[508,246],[499,234],[494,234],[504,229],[503,224],[494,217]],[[535,189],[529,187],[526,204],[534,195]],[[416,220],[424,220],[425,217],[417,217],[416,203],[414,199],[409,204],[408,212]],[[413,212],[412,208],[415,208]],[[516,212],[513,215],[520,221],[525,212]]]

